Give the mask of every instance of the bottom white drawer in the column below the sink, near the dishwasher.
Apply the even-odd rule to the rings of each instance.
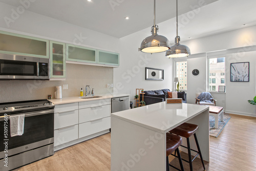
[[[111,117],[106,117],[94,121],[79,124],[79,138],[86,137],[111,127]]]

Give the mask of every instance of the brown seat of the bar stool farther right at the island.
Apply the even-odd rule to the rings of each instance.
[[[189,138],[198,131],[198,125],[191,123],[182,123],[175,129],[170,130],[169,133],[176,134],[185,138]]]

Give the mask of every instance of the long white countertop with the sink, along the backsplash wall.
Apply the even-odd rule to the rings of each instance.
[[[92,100],[101,100],[101,99],[108,99],[108,98],[115,98],[115,97],[124,97],[124,96],[130,96],[130,94],[97,94],[95,96],[102,96],[98,98],[89,98],[84,99],[80,96],[76,97],[63,97],[62,99],[50,99],[49,101],[53,102],[54,104],[65,104],[65,103],[74,103],[74,102],[81,102],[81,101],[92,101]],[[82,96],[85,97],[85,96]],[[87,96],[87,97],[91,97]]]

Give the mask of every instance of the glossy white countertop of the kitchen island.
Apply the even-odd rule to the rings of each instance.
[[[188,103],[166,104],[163,101],[112,113],[111,116],[159,133],[167,133],[208,109],[208,105]]]

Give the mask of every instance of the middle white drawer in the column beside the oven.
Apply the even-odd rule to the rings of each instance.
[[[78,124],[78,110],[54,114],[54,130]]]

